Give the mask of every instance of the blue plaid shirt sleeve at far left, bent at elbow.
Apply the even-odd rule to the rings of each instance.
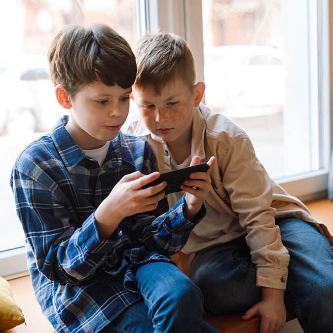
[[[77,221],[72,203],[52,179],[40,174],[38,180],[17,170],[11,175],[17,214],[37,268],[60,283],[88,280],[105,261],[112,261],[123,239],[118,232],[100,239],[94,212],[83,223]]]

